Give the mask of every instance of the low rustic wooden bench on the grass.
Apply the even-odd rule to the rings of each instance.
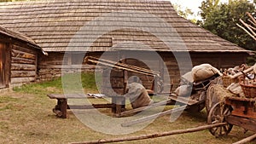
[[[53,112],[55,112],[56,116],[59,118],[67,118],[67,109],[92,109],[92,108],[112,108],[112,112],[119,113],[122,112],[125,108],[125,98],[120,96],[113,96],[112,103],[107,104],[92,104],[92,105],[67,105],[67,99],[85,99],[91,98],[87,95],[79,95],[79,94],[48,94],[50,99],[56,99],[57,105],[53,108]]]

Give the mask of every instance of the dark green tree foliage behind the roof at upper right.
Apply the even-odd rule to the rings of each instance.
[[[236,26],[239,19],[247,22],[246,12],[255,12],[253,3],[249,3],[247,0],[230,0],[229,3],[206,0],[201,3],[200,8],[202,27],[242,48],[256,50],[253,38]]]

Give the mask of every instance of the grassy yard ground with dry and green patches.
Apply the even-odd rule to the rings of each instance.
[[[73,78],[74,75],[68,75]],[[82,74],[83,88],[89,92],[96,92],[93,73]],[[204,125],[207,122],[207,112],[183,112],[173,123],[166,115],[154,120],[143,130],[129,135],[108,135],[91,130],[82,124],[79,119],[68,112],[68,118],[56,118],[52,112],[56,101],[50,100],[49,93],[62,93],[61,78],[40,84],[28,84],[15,88],[14,91],[0,95],[0,143],[69,143],[74,141],[91,141],[144,135],[169,130],[187,129]],[[96,99],[96,102],[101,102]],[[166,107],[169,109],[170,107]],[[108,113],[109,110],[101,110]],[[85,113],[86,114],[86,113]],[[226,144],[239,141],[252,132],[243,134],[243,130],[234,127],[230,134],[223,138],[215,138],[208,130],[183,135],[171,135],[143,141],[125,141],[119,143],[171,143],[171,144]]]

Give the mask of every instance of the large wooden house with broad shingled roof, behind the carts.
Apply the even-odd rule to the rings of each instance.
[[[178,83],[180,71],[188,71],[180,59],[192,65],[209,63],[218,68],[241,65],[248,51],[177,15],[169,1],[157,0],[58,0],[0,3],[0,26],[31,37],[49,55],[38,58],[38,77],[47,80],[67,71],[85,71],[84,54],[108,60],[126,59],[148,67]],[[172,43],[166,44],[166,43]],[[155,57],[152,52],[160,57]],[[185,57],[182,57],[185,55]],[[63,58],[65,59],[63,60]],[[164,63],[159,61],[163,60]],[[167,67],[167,72],[163,71]],[[146,82],[147,78],[143,78]],[[144,83],[147,84],[147,83]],[[149,86],[149,85],[148,85]]]

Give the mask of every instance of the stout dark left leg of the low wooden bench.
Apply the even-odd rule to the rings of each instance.
[[[67,118],[67,99],[57,99],[57,105],[53,112],[60,118]]]

